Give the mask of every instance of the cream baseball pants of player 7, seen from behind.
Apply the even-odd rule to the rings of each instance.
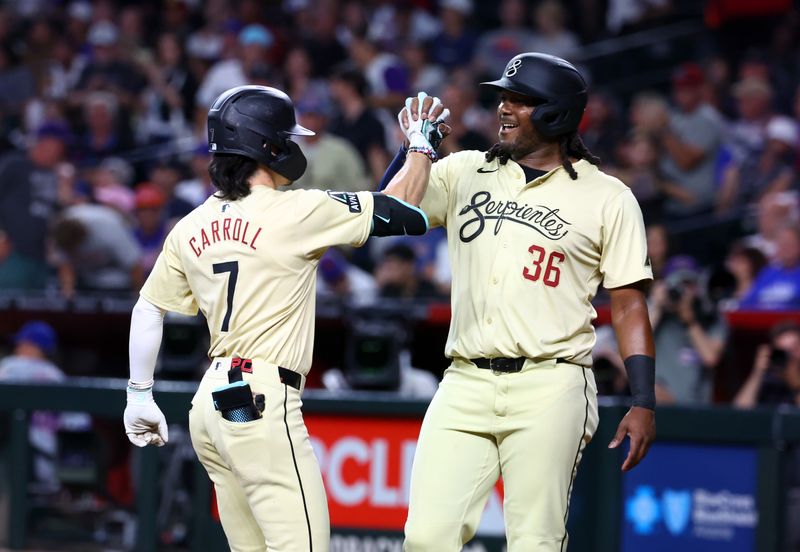
[[[217,494],[232,552],[327,552],[330,521],[319,464],[300,412],[301,389],[278,367],[253,360],[243,374],[262,393],[262,418],[236,423],[214,409],[211,392],[228,383],[230,359],[217,358],[192,399],[192,445]]]

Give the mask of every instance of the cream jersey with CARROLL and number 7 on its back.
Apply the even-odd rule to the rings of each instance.
[[[238,201],[211,196],[169,233],[141,295],[165,310],[199,308],[210,358],[258,358],[306,375],[319,258],[333,245],[362,245],[372,209],[369,192],[255,186]]]

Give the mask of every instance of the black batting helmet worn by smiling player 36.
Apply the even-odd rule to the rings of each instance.
[[[586,81],[581,74],[568,61],[547,54],[519,54],[508,62],[502,77],[481,84],[543,100],[531,121],[547,138],[575,132],[586,108]]]

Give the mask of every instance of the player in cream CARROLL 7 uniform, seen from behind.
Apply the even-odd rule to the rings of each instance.
[[[328,550],[325,490],[300,411],[316,268],[333,245],[427,230],[414,205],[433,156],[428,114],[437,119],[443,111],[424,94],[407,106],[401,125],[414,155],[385,193],[280,191],[306,167],[290,138],[310,131],[296,124],[279,90],[235,88],[209,111],[209,171],[218,192],[170,232],[141,290],[124,419],[133,444],[167,441],[152,394],[164,311],[201,311],[210,365],[192,401],[190,432],[233,551]]]

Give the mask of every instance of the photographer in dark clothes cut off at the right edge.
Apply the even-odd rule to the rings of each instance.
[[[737,408],[791,404],[800,406],[800,325],[782,322],[769,343],[759,346],[753,370],[733,398]]]

